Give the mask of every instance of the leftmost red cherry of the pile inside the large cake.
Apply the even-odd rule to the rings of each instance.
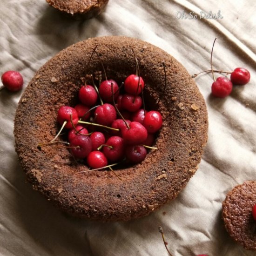
[[[67,121],[65,128],[71,129],[73,128],[72,123],[70,121],[70,115],[72,115],[73,124],[76,125],[78,122],[78,115],[74,108],[69,106],[62,106],[59,108],[57,120],[62,125],[64,121]]]

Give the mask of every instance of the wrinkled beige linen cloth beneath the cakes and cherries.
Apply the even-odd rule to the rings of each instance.
[[[201,11],[219,11],[222,19],[200,19]],[[150,216],[103,224],[60,212],[25,182],[13,138],[13,118],[24,89],[15,94],[2,90],[0,255],[168,256],[158,226],[173,256],[256,255],[231,240],[221,219],[227,192],[256,180],[256,1],[110,0],[100,16],[78,21],[44,0],[1,0],[0,72],[20,71],[26,87],[60,50],[103,35],[146,40],[172,54],[190,74],[209,69],[217,37],[214,68],[245,67],[251,80],[234,87],[226,99],[217,99],[210,95],[211,74],[196,78],[209,112],[209,140],[195,176],[175,201]]]

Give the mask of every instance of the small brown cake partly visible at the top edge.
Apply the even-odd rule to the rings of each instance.
[[[72,15],[77,20],[90,19],[100,14],[108,0],[46,0],[55,9]]]

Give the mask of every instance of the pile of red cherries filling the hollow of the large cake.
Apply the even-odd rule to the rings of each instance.
[[[142,107],[144,86],[135,74],[124,81],[124,94],[114,80],[102,81],[99,88],[83,85],[79,104],[59,108],[57,120],[69,129],[74,158],[86,159],[93,169],[124,159],[134,164],[145,159],[146,148],[151,148],[162,127],[162,115]]]

